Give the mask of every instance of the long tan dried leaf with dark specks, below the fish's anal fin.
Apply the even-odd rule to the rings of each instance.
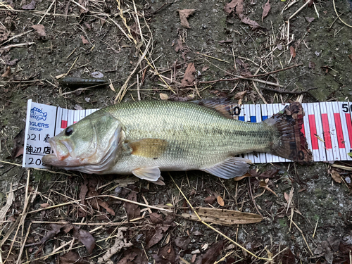
[[[203,219],[204,222],[211,222],[217,225],[239,225],[239,224],[253,224],[263,220],[261,215],[256,213],[241,213],[237,210],[225,210],[219,208],[194,208],[196,213]],[[182,213],[182,217],[199,221],[199,218],[195,214],[189,215],[188,213]]]

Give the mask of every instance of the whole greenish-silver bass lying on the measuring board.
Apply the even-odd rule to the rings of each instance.
[[[163,184],[162,171],[201,170],[231,179],[249,170],[243,153],[310,163],[303,115],[298,102],[258,123],[234,119],[234,105],[213,100],[118,103],[51,137],[53,153],[42,162],[89,174],[132,174],[156,184]]]

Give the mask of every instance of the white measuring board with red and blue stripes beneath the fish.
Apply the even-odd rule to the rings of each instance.
[[[231,106],[231,113],[234,119],[261,122],[282,111],[287,105],[234,104]],[[308,148],[313,153],[313,161],[352,161],[347,154],[352,152],[352,103],[302,103],[302,106],[306,115],[301,132],[306,136]],[[68,110],[28,100],[23,167],[49,168],[42,164],[42,156],[51,153],[48,139],[97,110]],[[251,159],[253,163],[290,162],[269,153],[247,153],[244,157]]]

